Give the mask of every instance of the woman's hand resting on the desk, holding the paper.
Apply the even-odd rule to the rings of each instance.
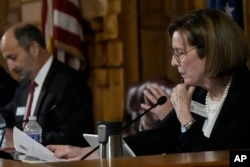
[[[47,148],[54,153],[56,158],[68,160],[80,160],[84,155],[92,150],[91,147],[75,147],[70,145],[48,145]],[[91,154],[86,159],[97,159],[96,153]]]

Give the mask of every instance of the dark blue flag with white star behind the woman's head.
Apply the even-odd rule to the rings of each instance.
[[[242,0],[208,0],[207,7],[225,11],[243,28]]]

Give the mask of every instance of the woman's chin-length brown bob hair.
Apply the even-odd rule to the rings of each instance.
[[[239,25],[225,12],[201,9],[184,15],[169,25],[169,35],[184,33],[188,43],[197,46],[200,58],[206,57],[208,77],[231,75],[245,64],[249,48]]]

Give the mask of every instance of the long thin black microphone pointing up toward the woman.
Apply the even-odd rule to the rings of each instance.
[[[138,115],[134,120],[132,120],[131,122],[129,122],[128,124],[126,124],[125,126],[122,127],[122,131],[124,129],[126,129],[127,127],[131,126],[135,121],[137,121],[138,119],[140,119],[143,115],[147,114],[150,110],[152,110],[153,108],[155,108],[158,105],[162,105],[164,103],[166,103],[167,101],[167,97],[166,96],[161,96],[157,102],[152,105],[149,109],[145,110],[142,114]],[[90,152],[88,152],[87,154],[85,154],[81,160],[84,160],[85,158],[87,158],[88,156],[90,156],[93,152],[95,152],[97,149],[99,148],[99,145],[96,146],[94,149],[92,149]]]

